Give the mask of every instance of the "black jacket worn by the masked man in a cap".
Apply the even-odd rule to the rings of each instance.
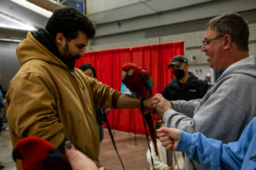
[[[210,87],[207,82],[198,79],[192,72],[189,72],[189,79],[186,83],[182,84],[174,77],[162,91],[161,94],[168,100],[190,100],[201,99]]]

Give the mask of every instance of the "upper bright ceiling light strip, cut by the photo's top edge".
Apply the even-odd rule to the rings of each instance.
[[[35,12],[35,13],[42,14],[43,16],[45,16],[47,18],[49,18],[52,15],[52,12],[50,12],[49,10],[41,8],[38,5],[30,3],[26,0],[10,0],[10,1],[12,1],[14,3],[17,3],[22,7],[28,8],[28,9],[32,10],[33,12]]]

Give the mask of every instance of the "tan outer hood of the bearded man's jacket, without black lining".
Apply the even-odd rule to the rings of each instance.
[[[19,43],[16,53],[20,65],[24,65],[31,59],[40,59],[53,65],[59,65],[60,67],[68,70],[67,65],[55,56],[55,54],[49,51],[48,48],[44,47],[41,42],[38,42],[38,40],[33,37],[31,31],[27,33],[26,39]]]

